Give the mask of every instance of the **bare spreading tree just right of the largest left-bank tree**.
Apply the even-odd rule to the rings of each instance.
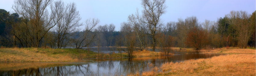
[[[59,5],[58,12],[63,15],[60,21],[56,22],[56,26],[53,28],[55,41],[57,48],[65,48],[70,41],[70,36],[80,31],[78,28],[83,24],[80,23],[81,17],[76,10],[76,4],[65,4],[63,1],[56,1],[55,5]]]

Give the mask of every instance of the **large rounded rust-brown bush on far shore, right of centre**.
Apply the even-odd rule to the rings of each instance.
[[[201,28],[192,28],[187,34],[186,44],[192,46],[195,50],[200,50],[208,44],[207,32]]]

